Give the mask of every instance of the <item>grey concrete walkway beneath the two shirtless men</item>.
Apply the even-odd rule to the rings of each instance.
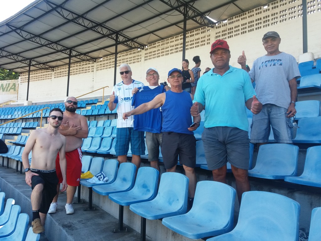
[[[25,175],[18,174],[15,169],[0,165],[0,189],[5,192],[5,199],[13,198],[15,204],[21,206],[21,212],[30,217],[31,226],[31,188],[25,182]],[[54,214],[48,214],[45,233],[41,234],[40,241],[139,241],[140,234],[131,230],[125,233],[114,233],[118,227],[118,219],[105,211],[96,208],[95,211],[84,211],[88,203],[73,204],[75,213],[66,215],[66,193],[58,198],[58,209]],[[77,199],[74,198],[74,202]]]

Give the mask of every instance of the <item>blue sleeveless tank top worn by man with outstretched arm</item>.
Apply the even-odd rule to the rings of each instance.
[[[165,92],[165,103],[161,110],[163,113],[162,132],[175,132],[193,135],[187,128],[192,124],[191,95],[186,91],[176,93],[171,90]]]

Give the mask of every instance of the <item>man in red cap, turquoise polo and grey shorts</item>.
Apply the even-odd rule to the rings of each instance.
[[[245,106],[257,114],[262,104],[247,72],[229,65],[230,47],[225,40],[216,40],[210,54],[214,68],[198,80],[191,114],[198,116],[206,106],[202,140],[208,168],[214,181],[226,183],[226,163],[230,162],[240,203],[242,193],[250,191]]]

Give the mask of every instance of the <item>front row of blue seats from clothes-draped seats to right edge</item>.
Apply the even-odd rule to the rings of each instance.
[[[216,236],[212,240],[298,240],[298,202],[272,192],[250,191],[242,196],[237,226],[233,229],[235,189],[224,183],[200,181],[194,203],[187,212],[188,178],[179,173],[163,173],[157,191],[159,173],[152,167],[136,167],[114,159],[88,157],[84,172],[104,171],[107,183],[89,183],[89,209],[92,191],[119,204],[119,225],[123,228],[123,207],[141,216],[141,240],[145,240],[146,219],[162,219],[169,229],[192,239]],[[251,218],[249,218],[251,217]],[[320,238],[321,207],[312,211],[309,241]],[[232,230],[233,229],[233,230]],[[268,234],[268,235],[267,235]]]

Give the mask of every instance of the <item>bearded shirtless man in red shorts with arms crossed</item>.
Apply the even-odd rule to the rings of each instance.
[[[88,137],[88,124],[86,117],[76,113],[77,99],[68,97],[65,101],[64,120],[58,131],[66,137],[66,160],[67,160],[67,201],[65,205],[66,214],[73,214],[74,208],[72,201],[79,186],[81,175],[82,158],[82,138]],[[59,153],[56,158],[56,164],[59,163]],[[57,177],[59,183],[62,183],[62,175],[57,168]],[[55,213],[57,210],[57,200],[60,184],[57,185],[57,195],[54,197],[48,213]]]

